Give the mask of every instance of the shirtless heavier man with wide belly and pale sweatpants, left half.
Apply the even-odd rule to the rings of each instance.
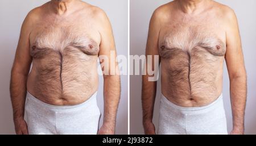
[[[117,63],[115,72],[108,66],[110,61],[102,68],[100,130],[96,101],[97,59],[110,59],[110,52],[115,53],[112,27],[98,7],[79,0],[52,0],[30,11],[11,71],[16,134],[114,134],[120,95]]]

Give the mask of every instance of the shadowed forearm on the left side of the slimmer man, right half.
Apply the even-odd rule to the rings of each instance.
[[[142,110],[143,123],[152,122],[155,95],[156,95],[156,81],[148,81],[148,76],[142,77]]]

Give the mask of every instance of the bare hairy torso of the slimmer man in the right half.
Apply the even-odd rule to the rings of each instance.
[[[172,5],[172,4],[168,4]],[[199,15],[171,10],[159,33],[162,93],[180,106],[204,106],[222,91],[225,30],[216,8]]]

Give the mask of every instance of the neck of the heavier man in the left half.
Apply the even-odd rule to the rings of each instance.
[[[56,14],[62,15],[71,9],[75,1],[76,0],[52,0],[51,5]]]

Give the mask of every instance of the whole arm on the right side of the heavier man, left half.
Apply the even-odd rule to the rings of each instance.
[[[120,98],[120,77],[116,60],[112,26],[105,12],[101,10],[101,44],[99,58],[104,76],[104,122],[98,134],[114,134],[115,119]]]

